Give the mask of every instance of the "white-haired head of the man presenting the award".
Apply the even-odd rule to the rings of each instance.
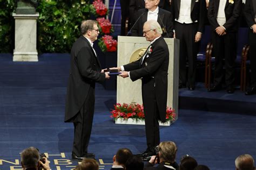
[[[143,25],[143,36],[147,41],[153,41],[155,38],[161,36],[163,30],[156,20],[148,20]]]

